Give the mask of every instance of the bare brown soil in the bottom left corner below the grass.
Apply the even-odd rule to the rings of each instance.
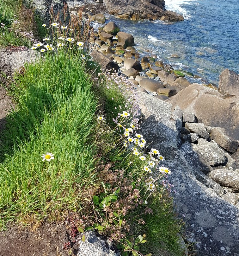
[[[63,224],[45,223],[34,232],[14,225],[0,232],[0,256],[66,256],[68,240]]]

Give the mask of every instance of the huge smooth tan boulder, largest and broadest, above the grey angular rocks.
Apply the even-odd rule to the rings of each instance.
[[[216,90],[193,83],[167,102],[172,103],[173,109],[180,106],[183,112],[193,112],[199,123],[225,128],[232,138],[239,140],[238,99],[224,99]]]

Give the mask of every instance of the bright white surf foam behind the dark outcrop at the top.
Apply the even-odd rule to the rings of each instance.
[[[185,4],[190,4],[195,0],[165,0],[165,8],[170,11],[175,11],[184,16],[184,19],[190,20],[192,18],[192,14],[184,8]]]

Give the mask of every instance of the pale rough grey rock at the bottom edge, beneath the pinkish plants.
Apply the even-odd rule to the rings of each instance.
[[[90,230],[85,232],[85,241],[78,240],[74,246],[77,256],[120,256],[119,251],[105,238]]]

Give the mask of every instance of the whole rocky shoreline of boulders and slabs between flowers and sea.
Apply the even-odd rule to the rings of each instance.
[[[103,14],[92,20],[104,22]],[[103,21],[102,21],[103,20]],[[191,84],[193,76],[139,52],[114,22],[92,38],[91,56],[115,69],[138,91],[141,133],[167,159],[187,241],[201,255],[239,255],[239,75],[224,70],[219,89]],[[142,57],[142,54],[144,55]]]

